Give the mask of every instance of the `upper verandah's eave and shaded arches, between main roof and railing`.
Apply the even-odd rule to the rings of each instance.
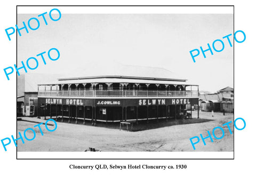
[[[198,86],[195,84],[187,83],[186,80],[173,81],[173,80],[159,80],[159,79],[139,79],[139,78],[111,78],[105,77],[90,77],[85,79],[69,79],[69,80],[59,80],[55,83],[50,84],[39,84],[38,88],[45,90],[57,86],[59,90],[75,90],[75,89],[86,89],[86,90],[169,90],[169,91],[185,91],[187,86]]]

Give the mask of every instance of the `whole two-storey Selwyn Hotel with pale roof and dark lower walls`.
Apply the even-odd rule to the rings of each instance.
[[[188,104],[198,105],[198,86],[166,69],[126,66],[110,73],[38,85],[39,116],[93,124],[167,120],[186,116]]]

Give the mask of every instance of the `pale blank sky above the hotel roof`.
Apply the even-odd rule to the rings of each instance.
[[[37,15],[18,14],[18,27]],[[129,64],[176,72],[199,85],[201,91],[234,87],[234,46],[223,40],[222,52],[211,55],[208,51],[206,58],[201,53],[195,57],[196,63],[189,53],[233,34],[233,14],[62,14],[59,21],[47,18],[47,26],[41,21],[35,31],[26,34],[21,30],[18,65],[53,47],[60,58],[51,61],[45,54],[46,65],[38,58],[38,68],[28,73],[70,77],[83,71],[90,76],[116,64]],[[31,26],[36,24],[31,21]],[[230,39],[233,44],[233,36]]]

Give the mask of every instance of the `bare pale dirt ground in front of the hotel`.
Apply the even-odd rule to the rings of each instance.
[[[197,112],[193,112],[196,116]],[[234,150],[234,134],[230,135],[228,127],[222,126],[228,121],[231,131],[234,133],[234,116],[233,113],[214,113],[211,117],[211,112],[200,112],[201,119],[185,120],[185,124],[179,125],[179,121],[174,120],[160,121],[157,126],[151,123],[149,129],[142,131],[125,131],[117,129],[119,124],[98,126],[90,126],[82,124],[68,124],[66,122],[58,122],[57,130],[49,132],[42,125],[44,135],[42,136],[38,128],[36,138],[33,141],[27,141],[25,144],[18,141],[18,151],[84,151],[89,147],[100,149],[101,151],[194,151],[189,138],[202,134],[207,136],[207,130],[212,134],[214,127],[222,127],[225,130],[225,136],[222,139],[213,138],[205,139],[206,145],[200,141],[196,144],[195,151],[233,151]],[[31,118],[30,118],[31,119]],[[37,118],[33,118],[37,119]],[[211,120],[209,120],[211,119]],[[38,120],[38,119],[37,119]],[[39,120],[45,122],[44,120]],[[198,122],[194,124],[186,124],[188,122]],[[201,122],[203,121],[203,122]],[[206,122],[205,122],[206,121]],[[51,122],[52,123],[52,122]],[[145,126],[146,122],[141,122],[141,127]],[[18,132],[23,134],[27,128],[33,128],[36,123],[18,121]],[[49,126],[50,129],[53,127]],[[33,133],[27,131],[27,137],[32,138]],[[215,131],[215,135],[221,137],[220,130]]]

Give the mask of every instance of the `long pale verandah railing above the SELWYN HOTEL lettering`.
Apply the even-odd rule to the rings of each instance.
[[[71,90],[71,91],[39,91],[39,96],[82,96],[82,97],[166,97],[166,96],[188,96],[198,97],[197,91],[87,91],[87,90]]]

